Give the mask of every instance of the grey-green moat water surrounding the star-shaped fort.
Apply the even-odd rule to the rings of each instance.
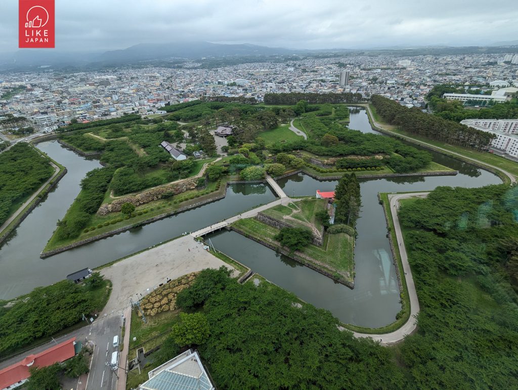
[[[377,133],[371,129],[363,109],[351,113],[349,127]],[[231,185],[224,199],[41,259],[39,253],[52,235],[57,220],[63,218],[79,193],[81,179],[100,165],[96,160],[87,160],[63,148],[56,141],[39,143],[38,148],[66,166],[68,173],[0,248],[0,299],[25,294],[34,287],[62,280],[81,268],[106,264],[275,199],[269,187],[263,184]],[[458,170],[459,174],[361,180],[363,206],[357,223],[354,290],[234,232],[214,234],[212,243],[271,282],[316,307],[330,310],[342,322],[369,327],[389,324],[395,320],[401,305],[383,208],[377,194],[429,191],[440,185],[480,187],[501,182],[491,172],[432,153],[434,161]],[[333,191],[336,183],[318,181],[304,174],[279,180],[289,196],[313,195],[316,190]]]

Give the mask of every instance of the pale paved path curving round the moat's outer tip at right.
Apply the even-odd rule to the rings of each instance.
[[[376,341],[380,341],[381,345],[390,345],[394,344],[398,341],[401,341],[405,338],[405,336],[412,334],[412,332],[416,328],[415,316],[419,313],[419,300],[418,294],[415,291],[414,280],[412,278],[412,270],[410,269],[410,264],[408,264],[408,256],[407,250],[405,248],[405,241],[403,240],[403,235],[401,233],[401,227],[399,225],[399,218],[397,215],[397,210],[399,208],[399,200],[404,198],[411,197],[426,197],[429,192],[414,192],[410,194],[389,194],[389,202],[390,202],[390,211],[392,214],[392,220],[394,221],[394,228],[396,233],[396,242],[395,245],[399,245],[399,253],[401,255],[401,263],[403,265],[403,270],[405,275],[401,275],[405,277],[405,281],[407,282],[408,295],[410,297],[410,317],[405,324],[403,324],[399,329],[383,334],[383,335],[369,335],[365,333],[356,333],[353,332],[355,337],[369,337]]]

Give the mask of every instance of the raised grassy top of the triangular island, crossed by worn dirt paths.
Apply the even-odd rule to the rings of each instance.
[[[288,206],[278,205],[264,210],[263,214],[271,216],[276,220],[285,222],[294,227],[308,228],[308,224],[314,226],[319,232],[322,229],[322,222],[316,219],[316,212],[323,210],[326,205],[325,199],[303,199]],[[290,218],[284,218],[289,216]]]

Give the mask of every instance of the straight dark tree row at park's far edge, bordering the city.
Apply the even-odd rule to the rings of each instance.
[[[265,104],[295,105],[300,100],[310,104],[323,103],[362,103],[365,98],[360,93],[267,93],[264,95]]]

